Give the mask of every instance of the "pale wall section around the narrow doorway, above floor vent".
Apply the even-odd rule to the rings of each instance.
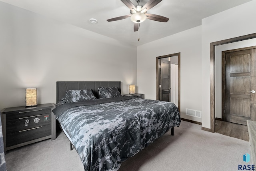
[[[201,26],[138,46],[138,93],[156,99],[156,57],[180,52],[181,117],[202,122],[185,115],[186,108],[202,110]]]

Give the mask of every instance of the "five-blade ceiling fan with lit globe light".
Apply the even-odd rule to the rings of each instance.
[[[156,6],[159,2],[162,0],[149,0],[144,6],[140,5],[140,0],[136,0],[138,2],[138,5],[134,6],[130,0],[121,0],[128,8],[130,8],[129,15],[126,16],[120,16],[116,18],[108,19],[108,22],[122,20],[126,18],[131,18],[132,22],[134,22],[134,32],[138,31],[140,28],[140,23],[144,22],[147,18],[149,20],[154,20],[158,22],[168,22],[169,18],[166,18],[164,16],[159,16],[156,14],[148,14],[147,11],[154,6]]]

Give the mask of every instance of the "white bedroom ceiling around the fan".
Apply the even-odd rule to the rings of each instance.
[[[116,40],[139,46],[201,25],[201,20],[251,0],[162,0],[147,13],[170,18],[167,23],[145,20],[138,32],[130,18],[107,19],[130,14],[120,0],[0,0]],[[134,5],[135,0],[131,0]],[[141,0],[144,5],[148,0]],[[98,20],[91,24],[90,18]],[[138,41],[140,38],[140,41]]]

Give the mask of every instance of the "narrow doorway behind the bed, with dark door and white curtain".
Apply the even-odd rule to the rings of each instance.
[[[156,57],[156,99],[180,110],[180,53]]]

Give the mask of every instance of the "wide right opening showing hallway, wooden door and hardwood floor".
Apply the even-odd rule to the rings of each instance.
[[[255,40],[216,48],[215,132],[249,141],[246,120],[256,120]],[[236,49],[233,49],[236,48]],[[230,50],[231,49],[231,50]]]

